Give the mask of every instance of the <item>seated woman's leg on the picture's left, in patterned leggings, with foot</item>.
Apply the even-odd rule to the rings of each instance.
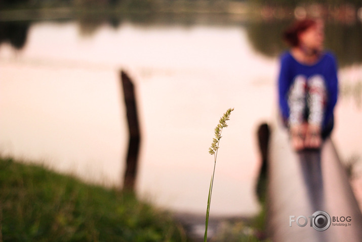
[[[295,150],[304,149],[305,128],[304,113],[306,108],[306,78],[297,76],[290,88],[288,96],[289,106],[289,130],[291,142]]]

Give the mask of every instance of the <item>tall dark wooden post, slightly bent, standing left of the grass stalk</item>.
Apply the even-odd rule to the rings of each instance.
[[[130,134],[126,171],[124,177],[124,189],[133,191],[137,175],[138,152],[141,140],[140,129],[138,124],[134,85],[129,76],[124,71],[120,72],[120,78],[125,96],[128,130]]]

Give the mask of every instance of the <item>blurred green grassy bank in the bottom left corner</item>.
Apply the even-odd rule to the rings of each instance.
[[[0,158],[2,241],[186,241],[170,214],[133,193]]]

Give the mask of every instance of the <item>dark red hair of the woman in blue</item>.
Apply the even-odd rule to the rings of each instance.
[[[316,25],[316,23],[314,19],[303,19],[294,22],[283,32],[283,40],[292,47],[299,46],[299,34]]]

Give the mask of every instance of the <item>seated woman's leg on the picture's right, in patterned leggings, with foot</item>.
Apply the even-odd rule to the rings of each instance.
[[[319,148],[321,145],[321,124],[326,106],[326,86],[323,77],[313,76],[307,82],[308,128],[305,147]]]

